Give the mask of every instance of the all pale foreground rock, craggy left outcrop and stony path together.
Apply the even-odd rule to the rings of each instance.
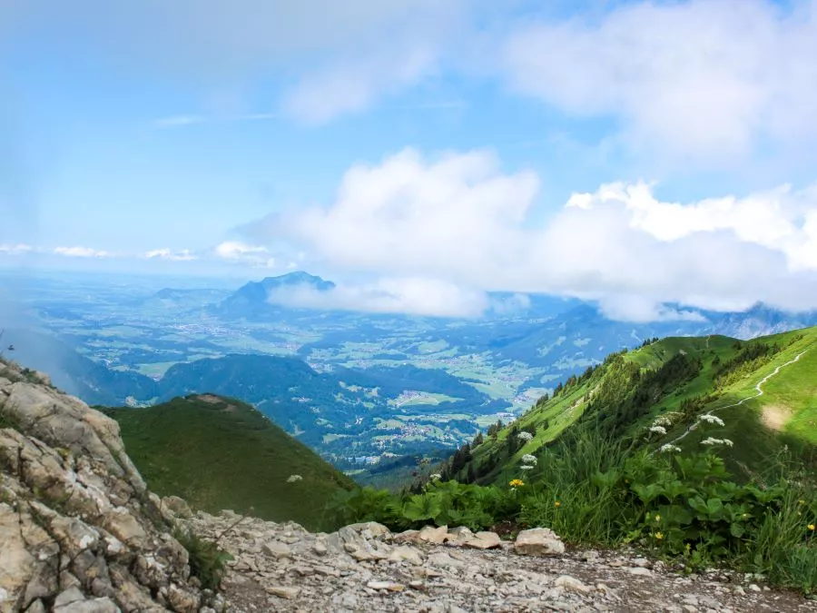
[[[173,528],[233,556],[202,589]],[[724,571],[684,576],[632,551],[566,551],[548,529],[376,523],[313,534],[150,492],[115,421],[0,362],[0,613],[113,611],[807,611],[815,603]]]

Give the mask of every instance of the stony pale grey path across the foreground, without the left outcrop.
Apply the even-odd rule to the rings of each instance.
[[[239,613],[817,611],[817,603],[743,574],[685,577],[633,552],[560,553],[549,530],[534,535],[533,555],[521,555],[514,543],[464,529],[392,534],[369,523],[310,534],[230,511],[187,521],[210,538],[239,521],[221,538],[235,557],[225,596]]]

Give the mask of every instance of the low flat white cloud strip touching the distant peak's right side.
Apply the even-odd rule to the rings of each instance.
[[[485,292],[421,278],[384,278],[320,292],[310,285],[270,292],[269,301],[292,308],[478,317],[490,306]]]

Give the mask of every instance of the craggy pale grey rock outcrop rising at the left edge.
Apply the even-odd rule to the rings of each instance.
[[[171,521],[115,421],[0,362],[0,612],[212,609]]]

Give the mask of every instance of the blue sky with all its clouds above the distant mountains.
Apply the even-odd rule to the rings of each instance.
[[[817,0],[0,0],[0,266],[817,308],[814,57]]]

